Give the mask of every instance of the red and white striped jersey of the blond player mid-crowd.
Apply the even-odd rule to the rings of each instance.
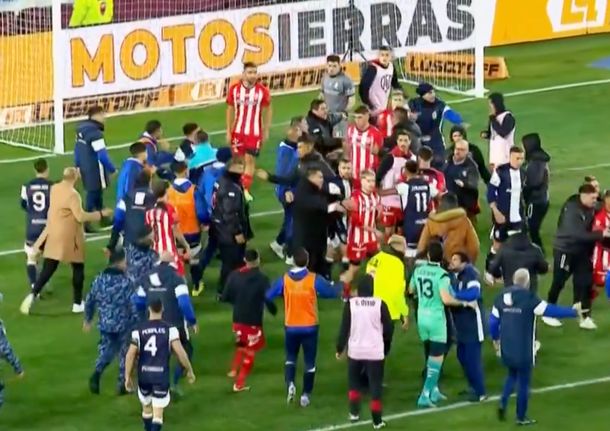
[[[375,192],[366,194],[362,190],[352,192],[355,209],[348,218],[347,243],[369,244],[377,242],[374,229],[377,227],[381,199]]]

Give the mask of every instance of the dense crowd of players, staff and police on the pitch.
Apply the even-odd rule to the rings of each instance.
[[[118,356],[118,392],[134,390],[131,374],[136,368],[145,429],[160,430],[170,380],[176,390],[183,375],[195,380],[190,332],[198,332],[198,326],[190,296],[203,292],[203,273],[218,254],[218,298],[233,304],[236,351],[229,376],[235,392],[249,389],[246,379],[265,345],[263,309],[275,313],[273,300],[281,296],[287,399],[296,397],[296,363],[302,349],[305,368],[299,402],[309,405],[316,372],[317,298],[342,296],[346,304],[336,347],[338,359],[348,357],[349,417],[360,419],[366,390],[373,427],[384,427],[384,361],[395,326],[409,327],[412,302],[425,354],[419,407],[435,407],[446,399],[438,381],[453,341],[469,386],[466,395],[473,402],[487,398],[481,346],[489,333],[508,369],[499,417],[505,418],[508,397],[517,384],[517,422],[534,423],[526,410],[540,347],[533,341],[535,316],[543,316],[551,326],[561,324],[558,318],[580,316],[582,328],[595,329],[590,314],[593,286],[605,283],[610,264],[605,243],[610,236],[610,194],[602,201],[599,184],[587,178],[563,206],[553,243],[553,284],[548,301],[542,301],[536,295],[536,279],[549,269],[540,227],[549,207],[550,157],[540,137],[526,135],[523,147],[515,145],[515,118],[502,95],[494,93],[489,96],[489,129],[481,132],[489,139],[486,163],[482,151],[467,141],[468,125],[430,84],[420,84],[417,97],[406,100],[386,48],[363,74],[358,87],[361,106],[355,107],[355,91],[340,58],[329,56],[320,98],[311,103],[307,115],[290,121],[277,148],[275,172],[255,166],[269,136],[272,113],[269,91],[258,81],[253,64],[244,66],[242,80],[228,91],[228,147],[211,146],[197,124],[187,123],[184,140],[170,152],[161,123],[147,123],[118,173],[106,248],[109,266],[95,278],[83,301],[84,256],[57,256],[49,250],[61,248],[55,242],[67,240],[61,238],[64,234],[55,239],[50,234],[58,229],[54,214],[61,205],[63,214],[71,211],[90,231],[90,222],[112,213],[104,209],[103,191],[116,169],[105,147],[104,112],[92,108],[77,130],[78,169],[66,169],[63,181],[52,185],[46,162],[39,160],[36,178],[22,189],[32,292],[21,311],[29,313],[59,262],[71,263],[73,312],[84,312],[86,331],[96,310],[99,314],[101,339],[91,391],[99,393],[104,369]],[[455,124],[448,146],[442,134],[444,120]],[[63,196],[52,193],[59,186],[72,190],[79,175],[86,191],[84,211],[80,199],[66,204],[52,197]],[[249,190],[255,178],[276,184],[284,210],[270,247],[290,269],[273,283],[260,268],[258,252],[248,248],[253,238]],[[505,285],[489,321],[484,317],[481,277],[474,267],[480,251],[475,226],[481,181],[493,218],[493,246],[484,278],[490,284],[503,279]],[[37,272],[41,249],[45,259]],[[333,283],[336,266],[341,275]],[[359,275],[362,266],[365,275]],[[575,307],[556,306],[570,275]],[[0,339],[0,348],[22,372],[5,338]],[[180,364],[170,378],[172,351]]]

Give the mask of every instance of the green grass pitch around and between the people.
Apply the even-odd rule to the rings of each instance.
[[[542,87],[610,78],[610,71],[592,69],[588,65],[608,56],[606,35],[560,40],[540,44],[503,47],[489,50],[493,55],[507,58],[511,78],[489,83],[491,90],[511,93]],[[274,123],[287,121],[303,114],[313,93],[274,98]],[[445,95],[448,101],[455,96]],[[553,157],[551,163],[551,210],[544,224],[544,238],[550,250],[551,238],[557,221],[557,211],[565,198],[573,193],[585,174],[596,175],[603,186],[610,185],[608,139],[610,121],[608,100],[610,85],[590,85],[535,94],[514,95],[507,106],[517,118],[517,134],[539,132],[546,149]],[[485,126],[485,100],[455,104],[467,122],[473,142],[480,143],[478,131]],[[107,124],[109,145],[123,144],[135,139],[147,119],[156,117],[165,127],[167,136],[178,136],[182,123],[196,121],[205,129],[220,130],[224,124],[224,107],[214,106],[171,112],[147,113],[112,118]],[[67,126],[72,136],[73,124]],[[267,168],[274,165],[275,147],[282,138],[283,126],[274,127],[270,142],[260,158]],[[223,135],[214,136],[221,142]],[[113,151],[119,163],[126,151]],[[11,147],[0,147],[0,158],[27,157],[31,152]],[[51,172],[57,178],[61,168],[71,158],[50,159]],[[68,268],[61,268],[52,281],[53,295],[40,303],[30,317],[18,313],[18,306],[27,292],[25,257],[10,253],[22,246],[24,217],[19,208],[21,183],[31,177],[31,162],[0,165],[0,291],[4,303],[0,316],[4,319],[9,339],[26,370],[23,381],[13,380],[6,366],[0,376],[6,380],[6,401],[0,410],[0,430],[4,431],[102,431],[139,430],[140,406],[133,396],[114,395],[116,366],[111,366],[102,380],[102,394],[92,396],[87,389],[87,378],[96,356],[97,336],[81,332],[81,317],[70,311],[71,288]],[[256,200],[252,212],[272,212],[278,209],[272,188],[256,183]],[[106,202],[113,202],[113,192]],[[480,217],[479,236],[482,248],[488,247],[488,213]],[[278,214],[258,216],[254,220],[256,237],[252,244],[263,256],[264,271],[271,277],[279,276],[285,265],[271,253],[268,243],[280,225]],[[86,281],[103,268],[104,241],[88,243]],[[484,253],[482,253],[484,255]],[[320,301],[321,336],[318,354],[318,373],[312,405],[307,409],[286,406],[283,385],[283,328],[282,315],[266,317],[268,347],[258,355],[249,383],[250,393],[234,395],[225,377],[233,352],[230,331],[231,311],[228,306],[213,300],[218,276],[217,263],[205,275],[208,290],[205,297],[195,298],[201,332],[194,338],[194,367],[197,383],[186,388],[186,397],[173,403],[166,412],[167,430],[311,430],[331,429],[344,425],[347,415],[347,372],[344,362],[334,357],[334,341],[342,304],[339,301]],[[550,277],[542,280],[546,292]],[[486,288],[489,303],[498,288]],[[568,285],[561,300],[571,301]],[[543,348],[534,372],[534,387],[596,379],[610,375],[609,309],[605,299],[595,303],[595,318],[600,326],[596,332],[583,332],[575,322],[563,328],[541,327]],[[485,349],[485,372],[490,394],[500,390],[504,370],[495,358],[489,343]],[[414,328],[399,332],[387,361],[385,413],[388,416],[413,411],[420,390],[419,373],[422,366],[420,343]],[[447,360],[444,389],[450,396],[448,403],[459,401],[457,393],[464,388],[457,360],[452,354]],[[608,381],[573,388],[554,388],[534,394],[530,414],[540,421],[538,429],[564,431],[586,426],[590,431],[608,429]],[[514,404],[512,406],[514,408]],[[511,417],[513,416],[511,408]],[[512,429],[509,422],[495,421],[495,403],[458,406],[453,409],[424,415],[390,418],[391,429],[454,431]],[[366,417],[366,414],[363,415]],[[370,425],[366,425],[367,427]]]

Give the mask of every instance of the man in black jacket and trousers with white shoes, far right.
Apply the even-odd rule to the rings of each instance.
[[[547,302],[557,304],[559,294],[570,275],[574,283],[574,303],[580,303],[584,319],[582,329],[596,329],[591,319],[591,289],[593,288],[593,264],[591,256],[597,241],[610,237],[610,230],[592,231],[595,217],[597,191],[591,184],[583,184],[578,194],[570,196],[561,208],[557,232],[553,241],[553,283]],[[543,318],[549,326],[561,326],[553,318]]]

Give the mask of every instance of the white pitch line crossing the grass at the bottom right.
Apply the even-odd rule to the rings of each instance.
[[[545,386],[542,388],[533,389],[531,392],[533,394],[544,394],[544,393],[548,393],[548,392],[557,392],[557,391],[563,391],[566,389],[579,388],[582,386],[597,385],[600,383],[610,383],[610,376],[600,377],[597,379],[579,380],[576,382],[564,383],[561,385]],[[499,395],[494,395],[493,397],[489,397],[486,401],[483,401],[483,403],[487,404],[487,403],[491,403],[491,402],[496,402],[499,399],[500,399]],[[413,417],[413,416],[424,416],[424,415],[429,415],[429,414],[434,414],[434,413],[446,412],[446,411],[450,411],[450,410],[463,409],[466,407],[474,407],[478,404],[483,404],[483,403],[460,402],[460,403],[449,404],[449,405],[443,406],[443,407],[438,407],[436,409],[409,410],[409,411],[405,411],[405,412],[401,412],[401,413],[395,413],[392,415],[384,416],[384,420],[386,420],[387,422],[392,422],[392,421],[395,421],[398,419],[404,419],[404,418]],[[324,426],[322,428],[314,428],[314,429],[310,429],[309,431],[335,431],[335,430],[341,430],[341,429],[356,428],[356,427],[361,427],[361,426],[365,426],[365,425],[370,426],[371,423],[372,423],[371,420],[364,420],[364,421],[359,421],[359,422],[354,422],[354,423],[345,422],[345,423],[338,424],[338,425],[328,425],[328,426]]]

